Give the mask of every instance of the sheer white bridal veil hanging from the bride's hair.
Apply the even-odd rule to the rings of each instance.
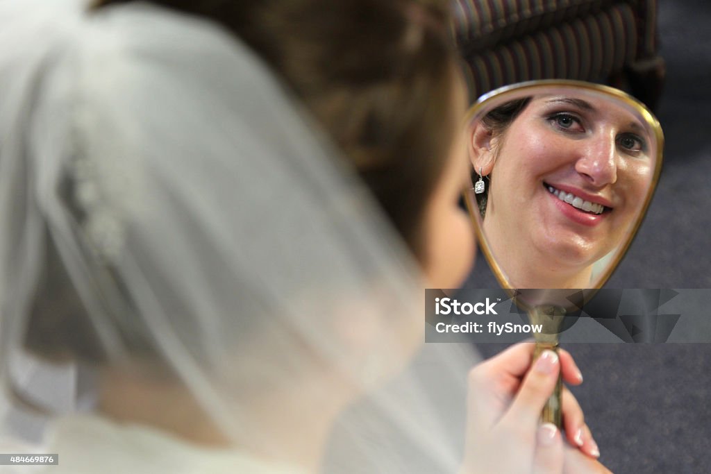
[[[456,470],[471,361],[381,384],[423,340],[419,272],[250,50],[149,4],[1,0],[0,91],[0,414],[52,247],[105,364],[159,360],[235,446],[279,451],[252,394],[326,365],[370,394],[326,470]]]

